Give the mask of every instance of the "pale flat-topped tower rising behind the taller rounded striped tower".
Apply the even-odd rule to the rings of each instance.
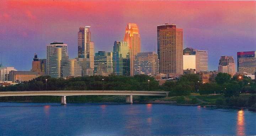
[[[63,42],[52,42],[48,45],[46,45],[46,74],[49,75],[49,64],[50,64],[50,56],[54,53],[54,49],[56,46],[62,46],[64,49],[64,52],[68,54],[68,45],[63,44]],[[44,65],[45,66],[45,65]]]

